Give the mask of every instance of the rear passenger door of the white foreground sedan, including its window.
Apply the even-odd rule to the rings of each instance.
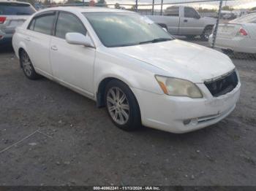
[[[36,71],[47,77],[52,76],[50,66],[50,40],[53,34],[53,26],[56,20],[56,12],[42,12],[36,15],[29,23],[25,34],[29,58]]]

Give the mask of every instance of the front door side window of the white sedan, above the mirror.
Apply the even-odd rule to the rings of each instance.
[[[80,33],[86,36],[86,28],[83,26],[83,23],[72,15],[71,13],[67,12],[60,12],[58,21],[56,24],[56,36],[61,39],[65,39],[65,35],[67,33]]]

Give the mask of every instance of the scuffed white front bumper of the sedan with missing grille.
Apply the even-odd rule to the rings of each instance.
[[[142,124],[171,133],[187,133],[213,125],[233,112],[240,96],[240,82],[232,92],[217,98],[205,85],[198,86],[206,92],[204,98],[159,95],[132,88],[140,106]]]

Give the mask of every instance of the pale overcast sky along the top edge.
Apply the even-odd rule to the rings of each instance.
[[[135,0],[105,0],[108,4],[135,4]],[[200,0],[164,0],[164,3],[181,3],[189,1],[198,1],[196,4],[187,4],[195,7],[205,7],[205,8],[217,8],[219,2],[200,2]],[[138,0],[138,4],[151,4],[152,0]],[[155,0],[155,4],[160,4],[161,0]],[[252,8],[256,7],[256,0],[234,0],[225,1],[223,0],[223,5],[229,5],[236,9],[241,8]]]

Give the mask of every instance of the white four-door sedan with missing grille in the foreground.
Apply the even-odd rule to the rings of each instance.
[[[135,12],[44,9],[12,44],[26,77],[42,75],[106,106],[123,130],[204,128],[227,117],[240,94],[230,58],[174,39]]]

